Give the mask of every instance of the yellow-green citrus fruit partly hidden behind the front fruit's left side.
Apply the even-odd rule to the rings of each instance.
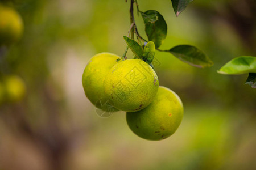
[[[84,92],[86,97],[104,111],[108,111],[108,107],[100,104],[104,104],[108,101],[104,92],[104,80],[108,71],[117,63],[119,56],[112,53],[99,53],[93,56],[89,63],[84,69],[84,74],[82,74],[82,86],[84,87]],[[115,110],[117,111],[117,109]]]

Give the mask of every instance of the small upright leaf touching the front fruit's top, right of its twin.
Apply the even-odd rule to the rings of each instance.
[[[155,44],[152,41],[147,42],[146,46],[143,49],[142,59],[144,62],[150,63],[153,61],[155,56]]]

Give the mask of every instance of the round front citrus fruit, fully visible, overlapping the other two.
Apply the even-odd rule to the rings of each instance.
[[[110,103],[126,112],[147,107],[158,91],[158,76],[141,59],[126,59],[114,65],[106,75],[104,88]]]

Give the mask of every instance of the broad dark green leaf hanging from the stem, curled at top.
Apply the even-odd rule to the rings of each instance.
[[[145,24],[145,32],[148,41],[153,41],[155,47],[158,48],[163,44],[163,40],[167,35],[167,24],[163,16],[158,11],[148,10],[141,12],[141,16]]]

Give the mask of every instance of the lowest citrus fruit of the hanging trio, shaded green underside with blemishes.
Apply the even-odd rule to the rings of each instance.
[[[183,118],[183,104],[174,91],[159,87],[158,94],[148,107],[126,113],[129,128],[139,137],[158,141],[170,137]]]

